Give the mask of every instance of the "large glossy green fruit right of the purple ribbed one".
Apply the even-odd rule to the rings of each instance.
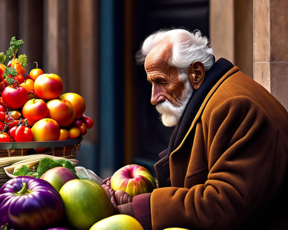
[[[97,221],[113,215],[111,201],[104,189],[94,181],[68,181],[59,193],[67,221],[76,229],[89,229]]]

